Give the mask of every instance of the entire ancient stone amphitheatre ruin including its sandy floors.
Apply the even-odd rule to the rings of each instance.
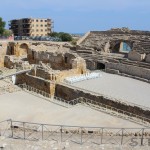
[[[149,98],[149,31],[90,31],[76,45],[0,41],[6,149],[127,149],[131,138],[149,146]]]

